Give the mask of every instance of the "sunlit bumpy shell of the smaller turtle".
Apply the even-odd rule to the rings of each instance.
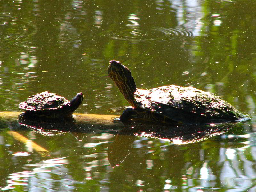
[[[47,111],[58,109],[66,102],[68,100],[64,97],[45,91],[28,97],[27,100],[19,104],[19,109],[24,111]]]

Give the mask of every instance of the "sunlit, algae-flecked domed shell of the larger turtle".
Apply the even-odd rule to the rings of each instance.
[[[248,117],[219,96],[193,87],[169,85],[137,89],[134,100],[140,108],[182,123],[235,121]]]

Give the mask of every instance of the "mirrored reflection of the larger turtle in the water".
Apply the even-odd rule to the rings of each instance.
[[[151,139],[154,138],[155,140],[164,140],[164,145],[167,144],[166,142],[170,142],[175,145],[185,145],[188,143],[197,143],[216,137],[217,135],[224,134],[238,123],[239,122],[229,122],[214,125],[181,124],[169,125],[170,129],[166,129],[165,125],[155,125],[152,123],[140,124],[140,122],[133,122],[132,125],[122,128],[117,133],[114,142],[109,145],[108,161],[112,168],[120,166],[132,151],[132,144],[136,138],[138,139],[138,137],[144,137],[144,139],[147,137]]]

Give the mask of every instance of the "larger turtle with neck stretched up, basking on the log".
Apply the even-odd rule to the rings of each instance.
[[[137,89],[130,70],[119,61],[109,61],[108,76],[132,106],[122,113],[121,121],[143,119],[171,124],[204,124],[249,119],[217,95],[193,87],[169,85]]]

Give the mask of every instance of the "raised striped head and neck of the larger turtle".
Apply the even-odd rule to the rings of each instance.
[[[131,71],[119,61],[112,60],[109,61],[108,76],[115,82],[116,86],[130,105],[136,107],[137,104],[133,97],[137,88],[131,75]]]

